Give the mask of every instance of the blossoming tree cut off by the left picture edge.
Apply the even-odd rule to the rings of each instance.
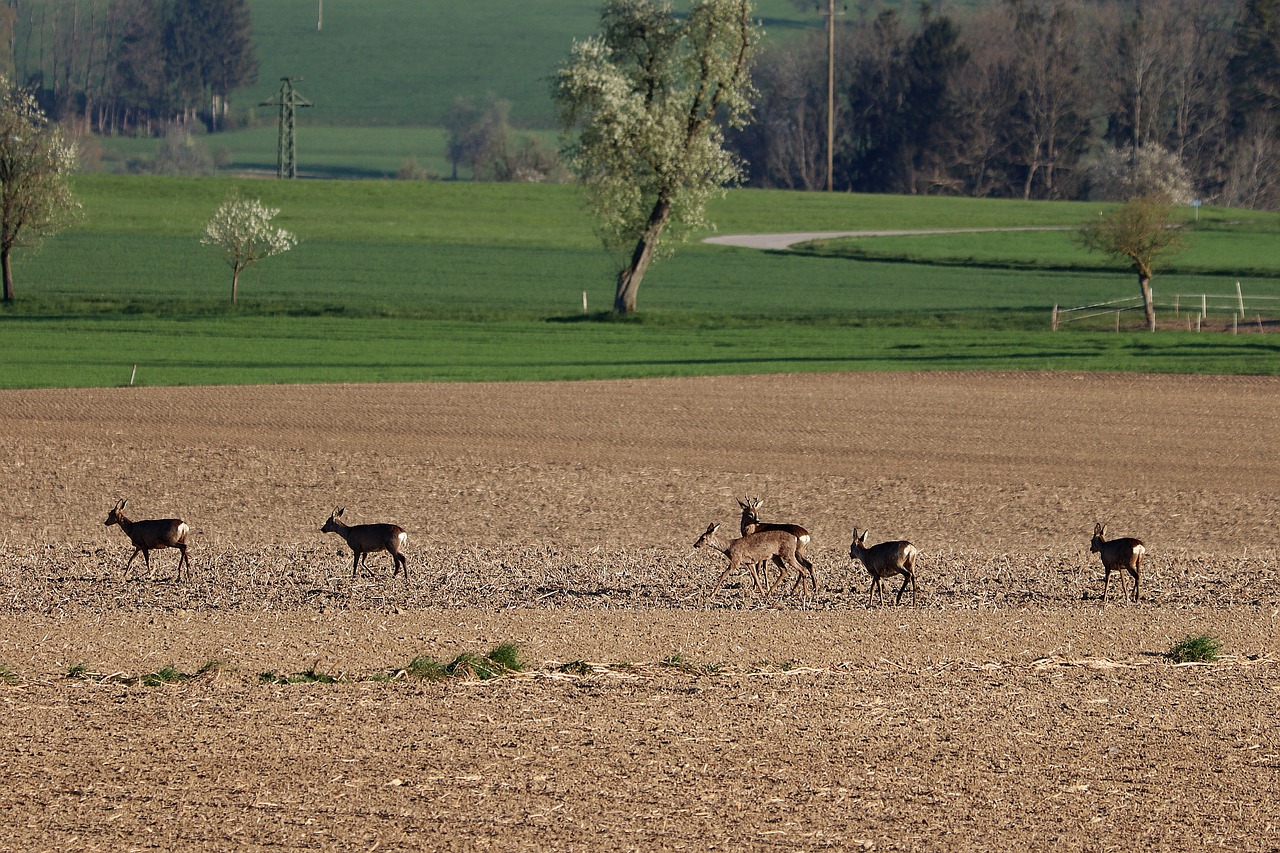
[[[0,76],[0,270],[4,301],[13,301],[10,254],[37,246],[79,207],[68,178],[76,146],[49,123],[35,96]]]

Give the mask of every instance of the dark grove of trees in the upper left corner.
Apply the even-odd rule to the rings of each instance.
[[[0,74],[99,133],[218,129],[257,79],[247,0],[4,0]]]

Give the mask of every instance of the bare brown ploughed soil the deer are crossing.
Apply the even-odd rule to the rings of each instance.
[[[1277,426],[1274,378],[0,392],[0,849],[1277,850]],[[749,494],[814,598],[704,601]]]

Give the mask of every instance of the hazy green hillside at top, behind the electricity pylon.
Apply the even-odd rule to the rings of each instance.
[[[433,127],[453,99],[492,92],[512,102],[517,126],[550,128],[549,77],[575,38],[598,29],[600,6],[328,0],[317,31],[315,0],[251,0],[261,72],[237,102],[259,104],[280,77],[302,77],[298,91],[316,104],[308,123]],[[768,37],[822,27],[812,8],[790,0],[764,0],[756,10]]]

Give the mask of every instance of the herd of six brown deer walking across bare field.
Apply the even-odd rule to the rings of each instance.
[[[694,548],[714,548],[726,557],[728,565],[719,574],[710,590],[703,597],[704,605],[712,599],[724,585],[730,575],[740,569],[746,569],[755,592],[765,598],[772,598],[787,578],[795,575],[790,594],[800,593],[815,596],[818,592],[818,578],[814,573],[813,561],[805,556],[805,548],[812,537],[809,532],[799,524],[778,524],[760,520],[760,498],[748,497],[737,502],[742,510],[739,524],[741,535],[736,539],[722,538],[719,524],[712,524],[703,535],[694,542]],[[182,519],[148,519],[133,521],[124,515],[125,501],[119,501],[106,516],[106,526],[119,525],[124,535],[133,543],[133,553],[124,564],[124,575],[128,576],[133,560],[142,555],[148,574],[151,569],[151,552],[160,548],[178,549],[178,580],[186,576],[191,579],[191,560],[187,556],[187,534],[191,528]],[[392,556],[392,578],[403,573],[408,580],[408,560],[402,549],[408,540],[404,529],[396,524],[346,524],[342,514],[346,507],[338,507],[329,514],[329,520],[320,528],[320,533],[337,533],[351,548],[351,576],[355,578],[361,566],[367,569],[369,555],[385,551]],[[1147,555],[1147,547],[1142,539],[1130,537],[1107,539],[1107,526],[1101,521],[1093,528],[1093,538],[1089,540],[1089,552],[1096,553],[1102,560],[1102,602],[1106,603],[1111,589],[1111,573],[1120,576],[1120,593],[1129,601],[1129,590],[1125,587],[1125,574],[1133,578],[1133,601],[1140,596],[1142,560]],[[883,581],[887,578],[901,575],[902,585],[897,588],[895,605],[902,603],[902,593],[911,588],[911,607],[915,601],[915,558],[920,549],[910,542],[881,542],[867,547],[867,530],[861,533],[854,528],[854,540],[849,546],[849,558],[860,562],[870,575],[870,588],[867,590],[867,606],[879,596],[884,599]],[[777,570],[777,576],[769,579],[769,573]]]

